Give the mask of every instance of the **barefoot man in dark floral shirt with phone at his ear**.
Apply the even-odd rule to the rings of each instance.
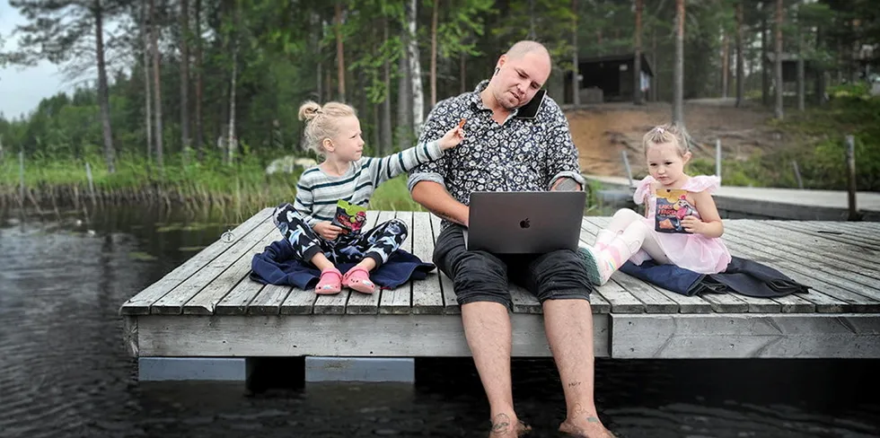
[[[488,397],[493,438],[528,430],[514,412],[511,390],[508,274],[543,307],[568,407],[559,430],[591,438],[612,436],[594,404],[592,286],[583,261],[571,250],[503,257],[464,246],[474,191],[583,188],[568,120],[556,102],[541,99],[549,76],[547,49],[534,41],[517,42],[498,58],[490,80],[474,92],[437,103],[422,138],[441,135],[461,118],[467,119],[467,136],[440,160],[409,174],[413,199],[444,219],[434,262],[453,279],[465,337]],[[532,101],[536,95],[539,98]]]

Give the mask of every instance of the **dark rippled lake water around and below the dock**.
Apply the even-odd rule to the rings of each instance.
[[[240,383],[136,381],[119,305],[230,228],[145,208],[0,212],[0,436],[486,436],[468,359],[413,387],[309,384],[246,397]],[[91,230],[91,232],[90,232]],[[597,361],[603,421],[629,437],[880,436],[880,361]],[[559,376],[517,360],[515,402],[560,436]]]

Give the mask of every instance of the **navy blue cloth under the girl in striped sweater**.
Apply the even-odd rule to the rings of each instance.
[[[341,264],[339,272],[345,274],[354,263]],[[428,272],[434,270],[433,263],[397,250],[388,261],[370,273],[370,279],[379,287],[393,289],[412,280],[423,280]],[[298,289],[314,289],[321,277],[321,271],[311,263],[294,258],[294,250],[285,240],[272,242],[263,252],[251,260],[251,279],[266,285],[291,285]]]

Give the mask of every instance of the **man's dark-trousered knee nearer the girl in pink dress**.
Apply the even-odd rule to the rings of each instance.
[[[532,293],[539,301],[583,298],[589,300],[593,285],[586,275],[584,260],[572,250],[542,254],[529,267]]]

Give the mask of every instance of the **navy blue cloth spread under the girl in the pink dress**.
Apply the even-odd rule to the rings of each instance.
[[[774,298],[789,293],[808,293],[801,285],[772,267],[747,258],[733,257],[724,272],[699,274],[675,265],[657,265],[647,260],[641,266],[627,261],[620,271],[648,283],[682,295],[701,293],[740,293],[759,298]]]

